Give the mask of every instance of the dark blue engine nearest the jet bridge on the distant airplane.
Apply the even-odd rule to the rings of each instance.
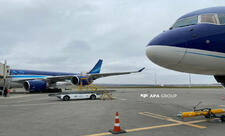
[[[47,88],[47,82],[43,80],[28,80],[23,83],[27,91],[43,91]]]

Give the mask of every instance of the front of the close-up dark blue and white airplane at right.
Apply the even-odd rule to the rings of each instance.
[[[225,85],[225,7],[181,16],[147,45],[147,57],[175,71],[214,75]]]

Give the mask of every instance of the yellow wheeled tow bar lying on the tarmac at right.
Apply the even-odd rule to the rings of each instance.
[[[177,117],[181,117],[183,119],[188,117],[204,116],[207,119],[219,118],[221,122],[225,122],[225,115],[217,115],[222,113],[225,113],[225,109],[211,109],[211,108],[196,109],[196,106],[195,106],[193,108],[193,111],[180,112],[179,114],[177,114]]]

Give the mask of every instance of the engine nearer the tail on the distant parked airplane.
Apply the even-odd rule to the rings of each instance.
[[[90,85],[93,80],[91,78],[89,78],[88,76],[74,76],[72,77],[71,79],[71,82],[74,84],[74,85]]]

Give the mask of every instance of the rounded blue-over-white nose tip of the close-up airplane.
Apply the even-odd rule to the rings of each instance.
[[[147,46],[146,55],[154,63],[173,69],[183,58],[185,41],[175,31],[169,30],[155,37]]]

